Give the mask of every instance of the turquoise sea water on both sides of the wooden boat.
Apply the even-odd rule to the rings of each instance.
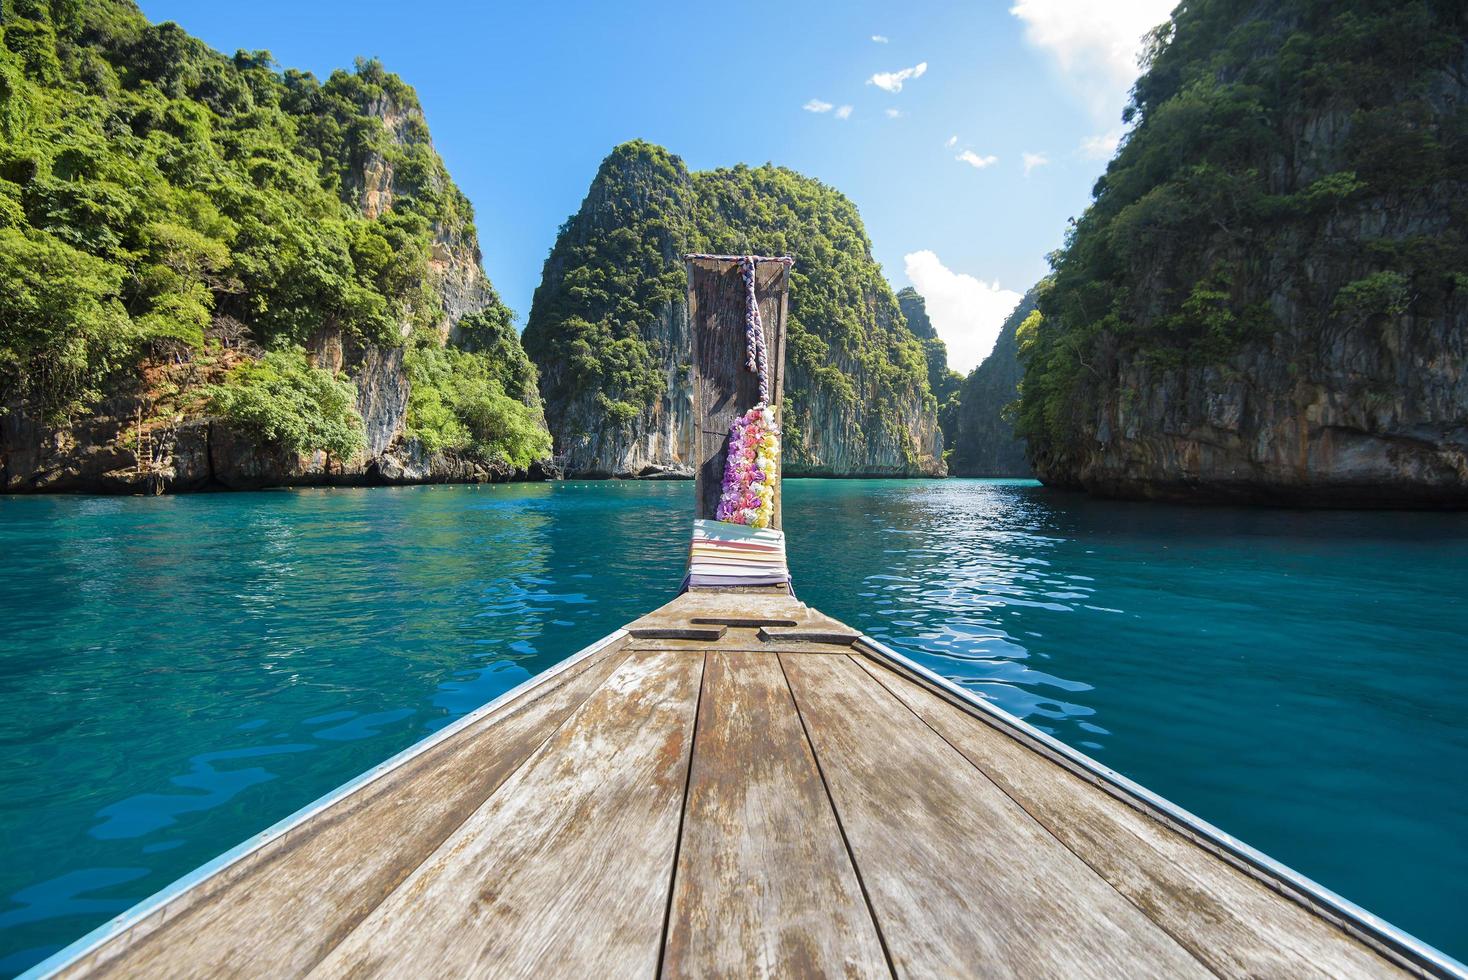
[[[0,971],[669,599],[691,486],[0,497]],[[1468,958],[1468,515],[788,481],[800,597]]]

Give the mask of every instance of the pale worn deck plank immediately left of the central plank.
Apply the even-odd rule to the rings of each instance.
[[[630,653],[313,976],[649,976],[702,657]]]

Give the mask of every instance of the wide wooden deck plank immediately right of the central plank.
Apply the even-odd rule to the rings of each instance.
[[[1211,976],[854,660],[781,662],[900,974]]]

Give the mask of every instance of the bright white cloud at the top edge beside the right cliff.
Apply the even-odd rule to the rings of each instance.
[[[1116,119],[1136,81],[1142,35],[1176,0],[1016,0],[1025,40],[1047,51],[1097,119]]]

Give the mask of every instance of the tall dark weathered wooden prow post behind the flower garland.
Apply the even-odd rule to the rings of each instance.
[[[769,398],[780,417],[785,389],[785,312],[790,267],[755,267],[755,296],[765,327]],[[759,379],[746,370],[746,288],[727,258],[688,260],[688,324],[693,333],[694,516],[712,518],[724,484],[724,452],[734,420],[759,403]],[[780,490],[771,527],[781,527]]]

